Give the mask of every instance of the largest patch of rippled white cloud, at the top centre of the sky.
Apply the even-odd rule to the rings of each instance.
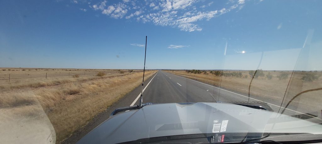
[[[101,10],[102,14],[109,15],[115,19],[125,17],[125,19],[134,19],[143,23],[152,22],[154,25],[170,26],[172,28],[179,28],[182,31],[192,32],[203,29],[198,25],[198,21],[210,20],[234,9],[238,12],[247,1],[230,0],[226,3],[226,8],[211,11],[197,9],[196,5],[194,5],[197,2],[204,3],[204,1],[200,0],[159,0],[153,3],[150,1],[123,0],[116,4],[107,5],[105,0],[90,5],[90,7],[94,10]],[[213,3],[205,3],[201,7],[205,8]],[[125,16],[128,12],[131,14]]]

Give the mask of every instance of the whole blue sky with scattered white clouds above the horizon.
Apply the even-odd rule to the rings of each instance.
[[[322,70],[322,1],[0,4],[0,67]]]

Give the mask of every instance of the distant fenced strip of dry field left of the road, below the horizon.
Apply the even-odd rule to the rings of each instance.
[[[69,70],[72,72],[69,72]],[[132,70],[131,73],[136,72],[138,72],[138,70]],[[25,71],[20,71],[18,68],[10,70],[5,69],[0,71],[0,92],[57,86],[77,81],[88,81],[128,74],[130,74],[130,72],[98,69],[82,69],[79,71],[77,69],[51,69],[50,72],[47,72],[47,69],[25,69]],[[11,76],[10,82],[9,75]]]

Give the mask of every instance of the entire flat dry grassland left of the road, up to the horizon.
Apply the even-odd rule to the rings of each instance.
[[[18,133],[25,134],[28,131],[34,136],[47,132],[47,135],[55,135],[55,141],[60,143],[75,130],[86,125],[95,115],[140,85],[143,76],[142,70],[124,69],[0,70],[0,119],[3,120],[0,125],[7,129],[17,124],[22,125],[14,129],[18,132],[1,133],[2,137],[6,136],[5,140],[9,140],[6,141],[8,143],[10,140],[16,142],[19,138],[23,141],[27,136],[21,137]],[[146,71],[145,78],[155,72],[156,70]],[[9,73],[10,82],[7,79]],[[26,125],[33,125],[33,128]]]

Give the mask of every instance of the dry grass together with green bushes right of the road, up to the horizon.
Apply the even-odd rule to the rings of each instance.
[[[254,77],[250,89],[251,98],[261,99],[261,97],[265,97],[263,99],[271,102],[281,102],[285,95],[284,102],[287,103],[300,92],[322,87],[321,71],[294,71],[293,74],[292,71],[265,71],[262,69],[249,71],[167,70],[167,72],[225,88],[245,96],[248,95],[250,82]],[[205,72],[209,75],[204,75]],[[316,111],[315,108],[309,107],[308,103],[310,103],[310,105],[322,109],[322,106],[318,103],[322,100],[320,95],[321,91],[303,93],[297,98],[300,101],[295,103],[297,104],[296,107],[304,112]]]

